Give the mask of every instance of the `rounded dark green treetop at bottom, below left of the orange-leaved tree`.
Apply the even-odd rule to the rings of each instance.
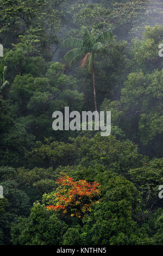
[[[12,225],[14,245],[59,245],[67,225],[56,215],[50,214],[45,206],[34,204],[29,218],[20,218]]]

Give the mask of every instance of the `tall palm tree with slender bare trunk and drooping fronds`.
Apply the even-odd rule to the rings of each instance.
[[[68,38],[62,41],[62,46],[66,48],[73,48],[68,51],[65,56],[65,62],[69,66],[73,66],[80,61],[80,66],[86,66],[87,71],[92,72],[93,78],[93,95],[95,101],[95,110],[97,111],[96,104],[96,90],[95,90],[95,55],[103,50],[102,42],[107,39],[112,39],[112,33],[109,31],[102,32],[95,35],[92,29],[91,33],[86,27],[82,27],[83,39]]]

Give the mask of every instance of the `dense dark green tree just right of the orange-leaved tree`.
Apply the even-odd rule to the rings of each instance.
[[[138,227],[131,216],[139,204],[139,192],[122,176],[105,176],[104,180],[104,195],[95,206],[92,219],[84,220],[83,239],[90,237],[89,244],[93,245],[136,245]]]

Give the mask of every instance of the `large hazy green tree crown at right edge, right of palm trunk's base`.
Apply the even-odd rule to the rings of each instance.
[[[112,111],[112,124],[141,145],[157,144],[160,157],[162,149],[162,70],[152,74],[132,72],[121,91],[119,101],[105,100],[102,109]],[[123,109],[123,110],[122,110]],[[133,126],[134,125],[134,126]],[[148,154],[151,154],[150,151]]]

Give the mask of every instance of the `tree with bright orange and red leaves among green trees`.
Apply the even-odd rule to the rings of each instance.
[[[97,182],[74,181],[66,173],[61,173],[57,184],[59,187],[55,192],[43,195],[44,202],[51,204],[46,206],[49,211],[61,211],[80,218],[98,203],[101,192]]]

